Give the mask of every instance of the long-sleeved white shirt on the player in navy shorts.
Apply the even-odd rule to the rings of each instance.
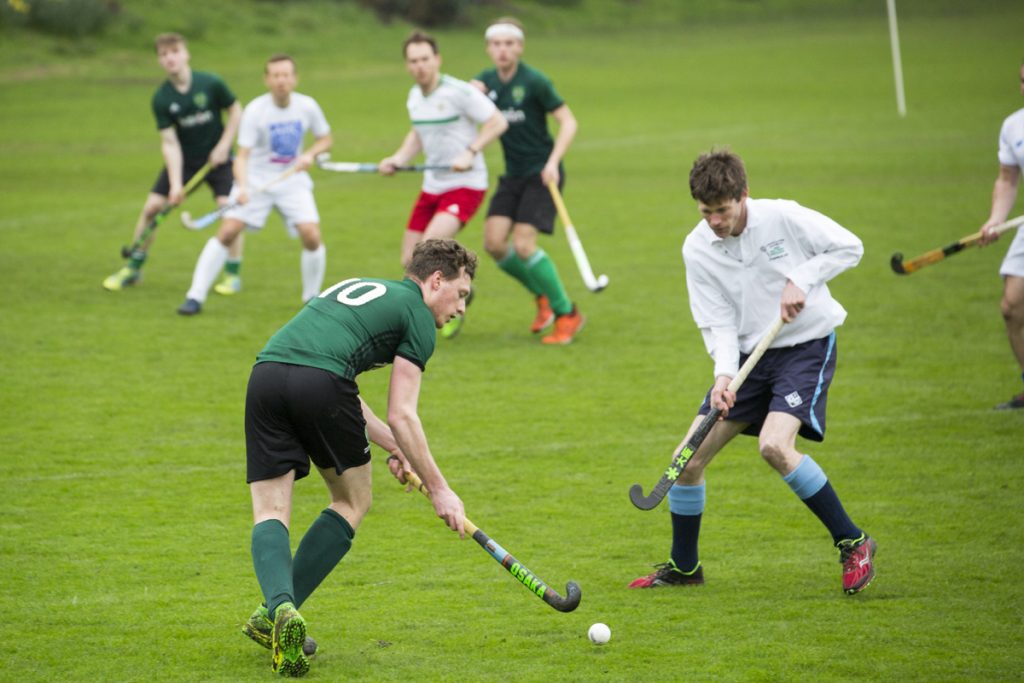
[[[817,211],[786,200],[746,200],[746,227],[721,239],[701,220],[683,243],[693,321],[715,359],[715,376],[735,377],[739,352],[750,353],[779,316],[786,281],[807,295],[804,309],[782,327],[772,348],[827,336],[846,309],[826,282],[864,253],[853,232]]]

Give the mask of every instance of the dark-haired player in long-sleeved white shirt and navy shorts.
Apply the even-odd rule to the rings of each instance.
[[[821,468],[796,447],[797,434],[824,438],[825,402],[836,370],[835,328],[846,310],[825,284],[860,260],[855,234],[822,214],[784,200],[753,200],[743,163],[730,152],[701,155],[690,194],[703,215],[683,245],[693,319],[715,359],[715,384],[689,433],[712,405],[723,419],[669,492],[673,542],[668,562],[630,588],[703,584],[697,537],[705,509],[703,471],[740,433],[758,437],[761,456],[828,529],[840,551],[843,591],[874,578],[874,541],[847,515]],[[782,331],[733,394],[729,382],[773,322]],[[766,574],[773,567],[766,566]]]

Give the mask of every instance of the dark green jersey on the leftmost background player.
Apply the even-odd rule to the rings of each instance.
[[[234,94],[213,74],[193,72],[188,91],[178,92],[170,81],[153,95],[157,128],[174,127],[185,159],[205,161],[224,133],[220,113],[234,103]]]

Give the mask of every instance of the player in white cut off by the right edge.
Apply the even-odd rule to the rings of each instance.
[[[1024,63],[1019,74],[1021,79],[1021,94],[1024,95]],[[1004,222],[1010,215],[1017,201],[1017,188],[1021,182],[1021,170],[1024,169],[1024,110],[1018,110],[1007,117],[999,130],[999,174],[992,188],[992,210],[988,220],[981,226],[983,232],[981,244],[989,244],[998,239],[992,232],[992,226]],[[1007,335],[1010,337],[1010,347],[1017,356],[1021,368],[1021,379],[1024,380],[1024,228],[1017,228],[1017,237],[1010,244],[1010,250],[1002,265],[999,266],[1002,275],[1002,319],[1007,323]],[[995,407],[997,410],[1024,408],[1024,391],[1005,403]]]

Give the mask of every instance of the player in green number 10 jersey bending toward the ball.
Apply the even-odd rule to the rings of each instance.
[[[253,565],[264,597],[243,631],[273,650],[272,669],[309,669],[298,608],[351,547],[370,508],[369,440],[391,455],[402,483],[415,471],[437,516],[464,536],[462,501],[449,488],[417,415],[436,331],[466,310],[476,256],[455,240],[417,245],[406,279],[351,278],[311,299],[256,356],[246,393],[246,480],[253,500]],[[392,365],[387,423],[359,397],[356,376]],[[292,489],[309,461],[331,498],[295,557]],[[411,467],[412,466],[412,467]]]

